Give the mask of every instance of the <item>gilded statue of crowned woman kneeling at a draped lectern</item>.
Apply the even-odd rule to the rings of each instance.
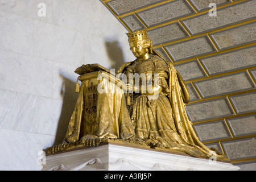
[[[210,158],[214,150],[217,160],[225,159],[224,154],[210,150],[197,137],[185,111],[185,104],[189,102],[187,86],[172,63],[152,49],[147,30],[129,32],[127,36],[136,59],[123,64],[117,75],[113,74],[120,80],[122,77],[122,88],[126,88],[126,92],[99,94],[95,85],[86,88],[81,85],[64,142],[49,151],[74,143],[97,146],[104,139],[113,139],[203,158]],[[89,107],[90,101],[86,99],[89,97],[97,97],[94,110]],[[113,108],[115,114],[111,111]]]

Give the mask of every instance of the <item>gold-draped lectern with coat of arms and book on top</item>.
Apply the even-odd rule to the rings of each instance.
[[[65,139],[47,148],[47,153],[80,144],[97,146],[106,139],[134,143],[135,133],[124,94],[126,85],[98,64],[82,65],[75,72],[81,74],[81,88]]]

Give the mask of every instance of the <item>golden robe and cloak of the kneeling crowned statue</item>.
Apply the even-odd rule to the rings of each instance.
[[[193,130],[185,111],[189,92],[171,63],[152,56],[141,63],[138,60],[126,63],[118,73],[125,73],[127,77],[129,73],[159,75],[159,86],[163,91],[155,100],[143,93],[130,94],[133,97],[130,114],[136,139],[152,147],[171,148],[196,157],[210,158],[213,155]],[[221,153],[216,155],[217,160],[224,157]]]

